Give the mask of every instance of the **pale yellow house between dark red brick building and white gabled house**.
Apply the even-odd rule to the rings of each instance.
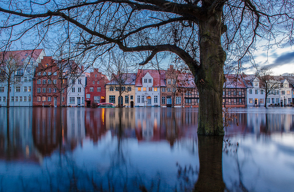
[[[106,102],[118,106],[119,90],[122,90],[121,106],[133,107],[135,105],[136,76],[136,73],[113,74],[111,81],[106,84]]]

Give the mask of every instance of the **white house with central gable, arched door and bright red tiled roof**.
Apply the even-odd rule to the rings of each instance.
[[[160,74],[156,69],[138,69],[135,83],[136,107],[159,107],[160,88],[166,87],[164,79],[165,74]]]

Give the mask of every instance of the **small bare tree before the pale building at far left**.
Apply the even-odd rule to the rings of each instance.
[[[15,74],[23,74],[23,64],[17,55],[12,52],[1,52],[0,56],[0,79],[4,86],[7,86],[6,107],[9,108],[11,85],[20,85],[20,77],[14,77]]]

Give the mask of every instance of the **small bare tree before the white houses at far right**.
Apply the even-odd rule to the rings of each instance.
[[[265,92],[265,101],[264,101],[264,107],[266,107],[266,100],[268,98],[268,95],[271,93],[276,93],[276,89],[280,88],[280,81],[276,79],[273,75],[274,72],[271,70],[268,66],[262,66],[257,68],[257,78],[260,82],[260,88],[259,90],[262,90]]]

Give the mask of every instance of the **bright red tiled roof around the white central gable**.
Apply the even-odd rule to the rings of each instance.
[[[166,86],[165,84],[165,70],[158,69],[138,69],[135,86],[142,86],[142,78],[149,73],[153,77],[153,87]]]

